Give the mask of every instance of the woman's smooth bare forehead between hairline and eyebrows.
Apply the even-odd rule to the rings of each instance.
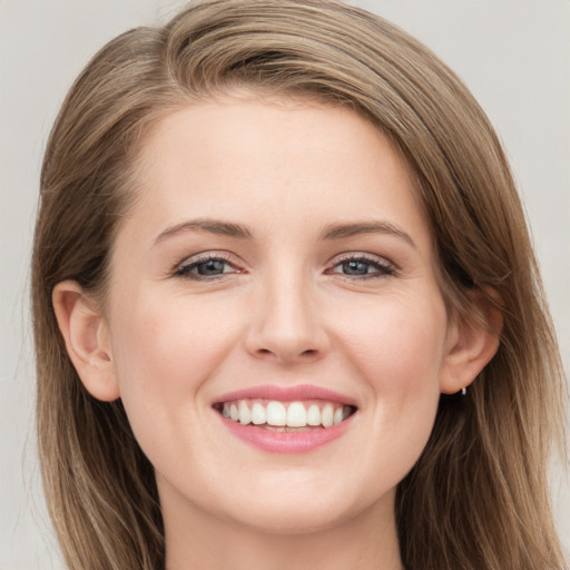
[[[189,105],[155,126],[139,164],[135,212],[156,230],[196,215],[288,219],[291,228],[316,227],[320,217],[425,223],[406,161],[347,107],[291,98]]]

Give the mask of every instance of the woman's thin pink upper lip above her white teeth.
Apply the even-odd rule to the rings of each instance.
[[[332,390],[314,386],[311,384],[298,384],[295,386],[278,386],[276,384],[265,384],[261,386],[252,386],[243,390],[228,392],[216,399],[214,404],[223,402],[232,402],[234,400],[277,400],[279,402],[295,402],[299,400],[326,400],[330,402],[338,402],[345,405],[355,406],[356,403],[352,397],[340,394]]]

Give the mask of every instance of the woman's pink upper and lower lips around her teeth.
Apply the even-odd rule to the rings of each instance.
[[[312,385],[287,387],[264,385],[238,390],[224,394],[220,399],[216,400],[215,404],[245,399],[265,399],[282,402],[327,400],[330,402],[338,402],[345,405],[355,405],[354,401],[350,397],[343,396],[342,394],[331,390]],[[222,414],[219,414],[219,417],[232,434],[257,449],[273,453],[306,453],[313,451],[343,435],[350,428],[353,420],[353,416],[350,416],[340,424],[326,429],[321,428],[299,432],[277,432],[265,430],[252,424],[243,425],[224,417]]]

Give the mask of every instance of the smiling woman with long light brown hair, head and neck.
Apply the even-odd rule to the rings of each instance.
[[[95,57],[41,186],[70,568],[563,568],[521,206],[419,42],[335,2],[194,3]]]

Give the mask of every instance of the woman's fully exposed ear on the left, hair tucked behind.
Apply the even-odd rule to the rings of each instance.
[[[96,304],[75,281],[58,283],[51,298],[67,352],[83,386],[98,400],[117,400],[120,392],[109,331]]]

